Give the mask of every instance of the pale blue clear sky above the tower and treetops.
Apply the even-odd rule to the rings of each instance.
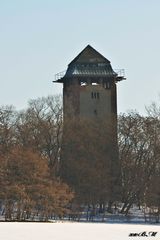
[[[159,0],[0,0],[0,105],[62,94],[54,75],[88,44],[125,69],[118,113],[160,94]]]

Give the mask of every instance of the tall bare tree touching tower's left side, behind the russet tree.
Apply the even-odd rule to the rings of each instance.
[[[62,104],[59,96],[38,98],[29,102],[18,115],[17,140],[47,157],[52,175],[58,175],[62,138]]]

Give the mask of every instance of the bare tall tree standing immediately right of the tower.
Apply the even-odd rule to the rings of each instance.
[[[159,159],[159,122],[136,112],[119,117],[119,150],[122,162],[123,207],[128,213],[133,203],[144,203],[144,195]],[[156,131],[155,131],[156,129]]]

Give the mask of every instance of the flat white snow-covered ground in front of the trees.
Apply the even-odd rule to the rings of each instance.
[[[156,236],[149,236],[157,232]],[[144,233],[144,236],[129,236]],[[106,223],[8,223],[0,222],[0,240],[160,240],[160,226]]]

